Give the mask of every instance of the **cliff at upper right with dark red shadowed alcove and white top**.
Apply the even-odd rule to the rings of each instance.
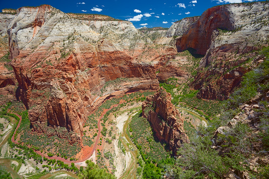
[[[263,60],[255,51],[268,45],[268,7],[268,2],[212,7],[179,38],[178,51],[205,55],[192,83],[200,90],[198,97],[227,99],[243,75]]]

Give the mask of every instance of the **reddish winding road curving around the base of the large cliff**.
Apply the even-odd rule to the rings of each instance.
[[[91,155],[93,154],[93,152],[95,151],[95,149],[96,149],[96,146],[97,146],[97,144],[98,144],[98,141],[99,141],[99,139],[100,139],[100,134],[101,134],[101,127],[100,127],[100,121],[101,121],[101,119],[104,117],[104,115],[105,115],[109,110],[111,110],[111,109],[114,108],[114,107],[117,107],[119,104],[121,104],[121,103],[114,104],[114,105],[112,105],[109,109],[105,109],[105,110],[103,111],[103,113],[102,113],[102,115],[100,116],[100,118],[98,119],[98,123],[97,123],[97,127],[98,127],[97,139],[96,139],[96,141],[95,141],[95,143],[94,143],[94,146],[93,146],[91,152],[89,153],[89,155],[87,155],[86,157],[84,157],[84,159],[81,159],[81,160],[74,160],[74,161],[73,161],[73,160],[63,159],[63,158],[61,158],[61,157],[54,157],[54,156],[53,156],[53,157],[48,157],[48,156],[42,154],[42,153],[41,153],[40,151],[38,151],[38,150],[34,150],[35,153],[37,153],[38,155],[40,155],[40,156],[42,156],[42,157],[45,157],[45,158],[47,158],[47,159],[57,159],[57,160],[60,160],[60,161],[65,162],[65,163],[74,163],[75,165],[79,165],[79,166],[80,166],[81,164],[76,164],[76,163],[81,163],[81,162],[84,162],[85,160],[89,159],[89,158],[91,157]],[[13,113],[13,114],[15,114],[16,116],[18,116],[18,117],[20,118],[20,121],[19,121],[19,123],[18,123],[18,125],[17,125],[17,127],[16,127],[16,129],[15,129],[15,132],[14,132],[12,138],[11,138],[11,141],[12,141],[13,143],[19,144],[19,142],[17,142],[14,138],[15,138],[15,134],[16,134],[17,130],[19,129],[19,127],[20,127],[20,125],[21,125],[22,117],[21,117],[20,115],[18,115],[17,113]],[[31,146],[28,145],[27,147],[30,148]],[[76,162],[76,163],[75,163],[75,162]]]

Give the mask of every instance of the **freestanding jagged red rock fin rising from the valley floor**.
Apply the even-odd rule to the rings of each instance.
[[[156,95],[147,97],[142,104],[142,111],[143,116],[150,121],[156,137],[166,142],[174,155],[177,155],[182,143],[189,142],[184,133],[183,118],[164,88],[158,89]]]

